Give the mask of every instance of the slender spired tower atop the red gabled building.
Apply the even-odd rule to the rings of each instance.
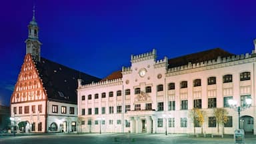
[[[39,39],[38,39],[38,33],[39,33],[39,27],[37,25],[37,21],[35,21],[35,7],[33,8],[33,18],[29,22],[29,25],[27,26],[29,28],[29,37],[25,41],[26,43],[26,55],[28,53],[31,53],[33,60],[35,62],[40,61],[40,53],[41,53],[41,45]]]

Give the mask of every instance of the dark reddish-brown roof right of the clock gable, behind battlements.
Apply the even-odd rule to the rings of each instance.
[[[179,67],[181,65],[187,65],[190,63],[200,63],[202,61],[209,61],[211,59],[217,59],[217,57],[229,57],[231,55],[234,55],[232,53],[229,53],[227,51],[224,51],[223,49],[216,48],[216,49],[209,49],[207,51],[201,51],[199,53],[192,53],[189,55],[183,55],[181,57],[176,57],[173,59],[169,59],[168,68],[171,67]]]

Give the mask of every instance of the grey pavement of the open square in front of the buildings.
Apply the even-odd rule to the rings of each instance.
[[[255,136],[247,137],[245,143],[254,144]],[[16,135],[0,136],[0,144],[162,144],[162,143],[234,143],[232,135],[221,137],[187,137],[187,135],[164,134],[41,134],[41,135]]]

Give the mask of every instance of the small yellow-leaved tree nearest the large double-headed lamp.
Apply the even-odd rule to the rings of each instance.
[[[227,112],[227,109],[223,108],[216,108],[213,111],[213,115],[216,117],[216,123],[217,123],[217,131],[219,133],[219,124],[222,124],[222,132],[224,134],[224,124],[229,121],[229,117],[227,116],[229,113]]]

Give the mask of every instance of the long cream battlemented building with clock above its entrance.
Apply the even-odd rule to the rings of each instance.
[[[79,131],[85,133],[193,133],[193,108],[203,111],[203,125],[195,133],[218,133],[216,108],[227,110],[224,129],[240,125],[255,134],[255,52],[233,55],[211,49],[173,59],[157,60],[155,49],[131,55],[131,67],[122,67],[98,83],[77,89]],[[250,107],[243,107],[251,98]],[[202,129],[203,127],[203,129]]]

